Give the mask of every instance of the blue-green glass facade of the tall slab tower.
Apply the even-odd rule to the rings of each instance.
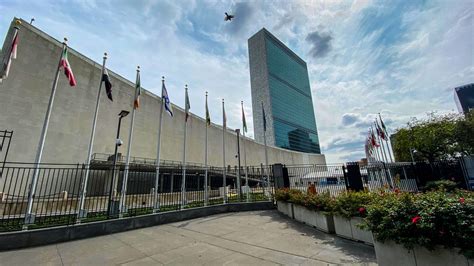
[[[306,63],[265,35],[275,146],[321,153]]]

